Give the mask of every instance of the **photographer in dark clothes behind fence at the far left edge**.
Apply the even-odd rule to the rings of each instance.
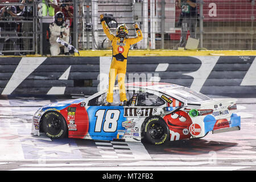
[[[8,4],[9,2],[5,2]],[[19,45],[17,44],[18,35],[16,32],[16,23],[15,18],[16,15],[16,7],[15,6],[5,6],[0,10],[1,20],[5,20],[6,22],[1,22],[1,38],[0,38],[0,52],[3,51],[3,47],[5,46],[5,42],[7,40],[11,40],[14,45],[15,55],[20,55],[19,53]],[[10,38],[16,37],[16,38]]]

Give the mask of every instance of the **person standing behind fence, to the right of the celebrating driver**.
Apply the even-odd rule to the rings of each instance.
[[[190,37],[196,38],[197,5],[196,0],[178,0],[177,6],[181,9],[180,24],[181,36],[179,47],[185,47],[187,43],[187,32]]]

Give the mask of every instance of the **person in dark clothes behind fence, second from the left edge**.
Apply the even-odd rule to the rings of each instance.
[[[19,6],[19,9],[22,10],[20,16],[24,17],[25,21],[33,20],[33,0],[20,0],[20,3],[23,5]],[[23,22],[22,24],[22,32],[23,36],[33,36],[33,22]],[[23,48],[24,50],[31,50],[31,39],[24,38],[23,39]],[[30,52],[24,53],[30,54]]]

